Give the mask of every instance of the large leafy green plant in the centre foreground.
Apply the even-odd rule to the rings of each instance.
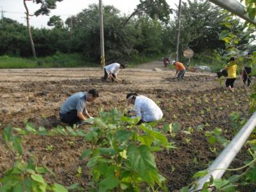
[[[152,128],[156,123],[136,126],[139,119],[117,110],[100,112],[93,121],[85,137],[92,147],[82,152],[89,158],[91,191],[167,191],[153,152],[174,146]]]

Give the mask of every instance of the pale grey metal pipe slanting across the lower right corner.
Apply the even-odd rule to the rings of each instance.
[[[256,112],[250,117],[243,128],[236,134],[232,141],[227,145],[227,147],[220,153],[218,158],[209,166],[208,174],[200,178],[197,183],[197,189],[202,189],[205,182],[208,182],[211,175],[214,179],[220,179],[225,173],[224,169],[227,169],[232,163],[233,159],[236,157],[240,149],[245,145],[253,130],[256,128]],[[222,169],[222,170],[220,170]],[[197,189],[191,189],[190,191],[195,191]],[[255,191],[256,192],[256,191]]]

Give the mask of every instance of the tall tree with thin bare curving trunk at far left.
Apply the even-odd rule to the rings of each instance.
[[[23,0],[24,3],[24,7],[26,9],[26,20],[27,20],[27,32],[29,34],[29,41],[31,44],[31,48],[32,48],[32,53],[33,53],[33,57],[36,58],[36,50],[34,48],[34,42],[33,42],[33,38],[32,38],[32,34],[31,34],[31,27],[30,27],[30,23],[29,23],[29,16],[33,16],[29,14],[29,9],[27,8],[27,3],[26,1],[32,1],[32,0]],[[56,8],[56,3],[57,2],[61,2],[63,0],[33,0],[33,3],[36,4],[41,4],[41,7],[39,10],[34,12],[34,15],[38,16],[38,15],[49,15],[50,10],[53,10]]]

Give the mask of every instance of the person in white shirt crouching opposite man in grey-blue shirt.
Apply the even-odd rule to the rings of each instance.
[[[143,122],[153,122],[162,119],[162,110],[154,103],[153,100],[146,96],[139,95],[136,92],[130,92],[126,96],[128,105],[132,103],[134,105],[135,117],[140,117],[138,124]],[[135,118],[132,117],[132,118]]]

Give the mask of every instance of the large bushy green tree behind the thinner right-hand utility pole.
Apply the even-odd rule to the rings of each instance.
[[[220,23],[225,20],[225,13],[218,6],[214,6],[209,1],[188,0],[181,6],[181,38],[180,52],[185,48],[192,48],[194,52],[203,52],[204,50],[215,50],[216,48],[225,48],[225,44],[218,40],[218,34],[221,33],[223,26]],[[170,22],[170,28],[165,33],[169,34],[170,44],[174,47],[176,42],[176,17]]]

